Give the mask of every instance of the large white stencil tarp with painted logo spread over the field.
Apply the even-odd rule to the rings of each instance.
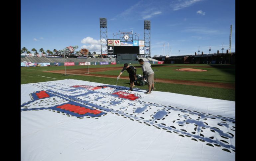
[[[128,89],[21,85],[21,161],[235,160],[235,102]]]

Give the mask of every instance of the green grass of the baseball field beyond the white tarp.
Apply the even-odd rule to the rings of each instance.
[[[137,74],[142,74],[140,64],[132,64],[137,68]],[[117,76],[123,64],[117,65],[90,65],[90,68],[108,68],[117,67],[118,70],[109,70],[105,72],[90,72],[93,74],[107,74]],[[178,66],[178,67],[177,67]],[[196,67],[195,67],[196,66]],[[68,69],[82,69],[87,66],[67,66]],[[184,72],[176,71],[179,68],[194,68],[194,69],[204,69],[207,72]],[[155,79],[176,79],[176,80],[190,80],[190,81],[202,81],[202,82],[218,82],[218,83],[235,83],[235,65],[227,64],[152,64],[152,69],[155,71]],[[117,79],[114,78],[101,78],[92,76],[82,76],[82,75],[63,75],[59,73],[47,73],[45,70],[64,70],[64,66],[58,67],[21,67],[21,84],[27,83],[37,83],[45,81],[55,81],[63,79],[77,79],[90,82],[98,82],[116,85]],[[122,76],[128,76],[127,72],[124,72]],[[122,77],[121,76],[121,77]],[[55,79],[54,79],[55,78]],[[129,87],[129,80],[118,79],[117,85]],[[225,89],[225,88],[213,88],[213,87],[203,87],[203,86],[192,86],[192,85],[182,85],[182,84],[170,84],[170,83],[159,83],[155,84],[157,88],[156,91],[172,92],[185,95],[207,97],[221,100],[235,101],[235,89]],[[148,86],[135,86],[135,88],[148,89]],[[171,99],[171,98],[170,98]]]

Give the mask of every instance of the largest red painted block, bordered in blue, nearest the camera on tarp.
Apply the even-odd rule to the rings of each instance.
[[[80,107],[80,106],[75,106],[75,105],[70,105],[70,104],[58,106],[57,108],[68,110],[68,111],[71,111],[74,113],[78,113],[80,115],[84,115],[86,113],[97,115],[97,114],[101,113],[101,111],[99,111],[99,110],[91,110],[91,109],[87,109],[85,107]]]

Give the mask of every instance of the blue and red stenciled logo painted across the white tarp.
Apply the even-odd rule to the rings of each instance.
[[[31,101],[21,111],[51,110],[67,116],[99,119],[107,114],[137,121],[171,135],[203,142],[212,148],[235,153],[235,119],[157,104],[136,88],[114,85],[65,85],[56,82],[35,83],[42,89],[31,94]],[[154,91],[152,92],[154,93]],[[170,98],[172,99],[172,98]],[[144,100],[144,101],[143,101]]]

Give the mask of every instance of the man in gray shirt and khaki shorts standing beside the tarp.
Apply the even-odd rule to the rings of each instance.
[[[146,94],[150,94],[151,91],[155,89],[154,86],[154,71],[151,68],[151,64],[149,62],[144,62],[143,59],[139,60],[140,65],[142,65],[142,71],[143,71],[143,78],[145,80],[145,77],[147,76],[148,84],[149,84],[149,90],[146,92]]]

